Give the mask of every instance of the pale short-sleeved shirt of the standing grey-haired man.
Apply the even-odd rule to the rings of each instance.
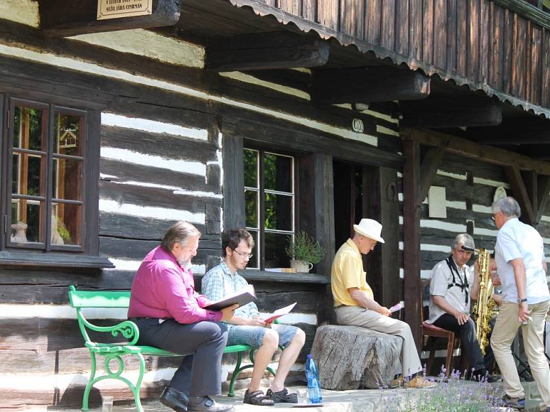
[[[527,304],[538,304],[550,299],[546,273],[542,268],[544,245],[534,227],[512,218],[500,227],[496,236],[496,272],[502,282],[503,301],[517,303],[518,289],[511,260],[522,258],[525,264]]]

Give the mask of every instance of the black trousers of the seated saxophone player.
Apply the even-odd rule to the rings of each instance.
[[[468,365],[470,365],[469,372],[472,371],[472,369],[474,369],[474,371],[486,369],[485,363],[483,362],[483,354],[481,354],[476,337],[476,324],[471,318],[463,325],[459,325],[459,321],[457,321],[452,314],[445,313],[442,314],[437,321],[434,321],[434,325],[438,328],[450,330],[454,332],[454,334],[460,336],[461,350],[466,356]]]

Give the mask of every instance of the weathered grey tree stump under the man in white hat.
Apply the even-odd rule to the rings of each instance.
[[[403,339],[359,326],[320,326],[311,354],[323,389],[389,387],[397,370]]]

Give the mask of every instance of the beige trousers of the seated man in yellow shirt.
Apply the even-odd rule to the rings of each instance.
[[[403,345],[401,346],[402,371],[395,371],[395,373],[402,372],[404,376],[410,376],[422,370],[415,339],[412,337],[412,332],[410,332],[407,323],[383,316],[362,306],[340,306],[336,308],[336,320],[340,325],[361,326],[377,332],[401,336],[403,338]]]

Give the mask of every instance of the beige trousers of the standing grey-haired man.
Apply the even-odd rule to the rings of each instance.
[[[516,369],[516,363],[511,354],[511,343],[516,337],[518,328],[521,327],[525,354],[527,354],[531,374],[535,378],[542,397],[541,409],[543,411],[550,407],[550,369],[546,356],[544,356],[544,343],[542,342],[549,307],[550,301],[529,305],[533,320],[527,325],[522,325],[518,321],[518,304],[505,302],[500,306],[491,336],[491,347],[500,373],[503,374],[506,393],[512,398],[524,398],[525,393],[518,376],[518,369]]]

